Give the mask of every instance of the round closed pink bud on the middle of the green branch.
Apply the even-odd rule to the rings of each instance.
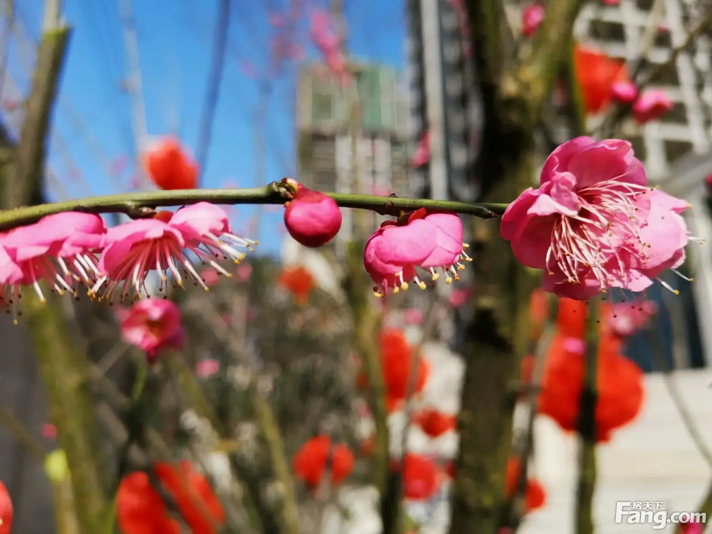
[[[327,244],[341,229],[341,211],[336,201],[294,180],[294,199],[284,210],[284,224],[295,241],[310,248]]]

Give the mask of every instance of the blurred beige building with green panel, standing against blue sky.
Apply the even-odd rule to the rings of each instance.
[[[321,63],[301,70],[297,101],[298,180],[324,192],[407,197],[409,130],[407,95],[396,70],[376,63],[355,66],[359,99],[357,137],[352,138],[350,92]],[[352,150],[352,147],[356,150]],[[353,155],[353,152],[356,152]],[[344,210],[339,241],[350,241],[351,210]],[[375,228],[381,217],[370,214]]]

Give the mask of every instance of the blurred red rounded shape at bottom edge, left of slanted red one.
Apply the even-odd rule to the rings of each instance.
[[[116,495],[116,519],[122,534],[180,534],[160,493],[142,471],[121,479]],[[4,533],[4,530],[0,530]],[[9,530],[7,530],[9,533]]]

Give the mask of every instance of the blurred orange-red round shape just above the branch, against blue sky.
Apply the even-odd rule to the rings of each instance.
[[[152,142],[143,154],[143,164],[159,189],[194,189],[198,184],[197,164],[174,137]]]

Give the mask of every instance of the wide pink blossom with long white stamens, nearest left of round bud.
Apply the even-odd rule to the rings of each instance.
[[[245,253],[238,248],[253,250],[256,244],[234,235],[225,211],[214,204],[199,202],[175,214],[161,211],[154,219],[130,221],[107,232],[98,265],[102,276],[90,294],[104,288],[106,298],[111,299],[118,292],[122,301],[131,291],[141,295],[146,290],[146,277],[154,269],[161,275],[160,290],[167,289],[169,275],[173,286],[183,286],[185,278],[207,290],[188,253],[231,277],[216,258],[239,263]]]

